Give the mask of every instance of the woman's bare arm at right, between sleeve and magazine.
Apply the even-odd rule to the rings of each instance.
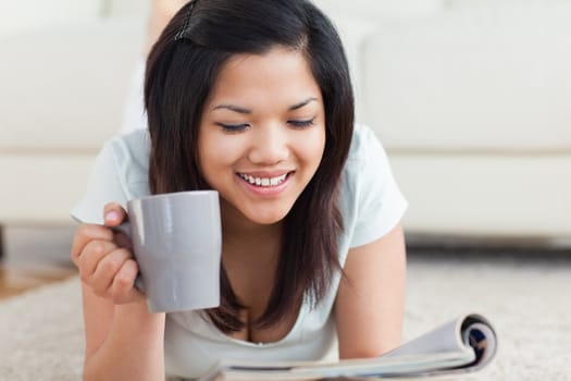
[[[380,356],[400,345],[406,294],[402,228],[349,250],[335,300],[339,357]]]

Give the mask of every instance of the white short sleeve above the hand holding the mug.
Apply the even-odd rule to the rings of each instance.
[[[126,201],[113,146],[108,143],[96,159],[84,197],[71,214],[79,222],[102,224],[105,204],[119,202],[125,207]]]

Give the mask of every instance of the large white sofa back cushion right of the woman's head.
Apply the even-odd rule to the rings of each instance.
[[[369,37],[364,122],[390,149],[571,149],[571,4],[447,12]]]

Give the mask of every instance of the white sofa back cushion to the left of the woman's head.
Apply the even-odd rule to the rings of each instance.
[[[111,20],[0,40],[0,151],[97,152],[119,131],[142,37],[140,20]]]

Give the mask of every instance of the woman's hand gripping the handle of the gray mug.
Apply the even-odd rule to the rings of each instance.
[[[72,260],[79,269],[83,283],[115,305],[146,302],[145,295],[135,287],[139,269],[133,258],[131,239],[109,228],[121,224],[126,217],[120,205],[105,205],[105,225],[80,224],[72,245]]]

